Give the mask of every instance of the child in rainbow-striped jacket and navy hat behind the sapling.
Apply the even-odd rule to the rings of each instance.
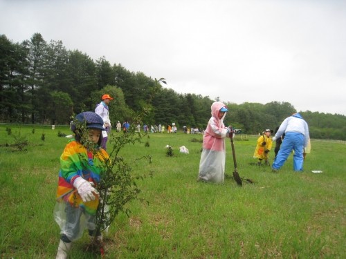
[[[84,127],[84,128],[83,128]],[[100,197],[95,186],[100,182],[102,161],[109,155],[100,148],[102,117],[93,112],[80,113],[71,124],[75,133],[60,157],[57,203],[54,218],[60,226],[60,244],[56,258],[67,258],[71,243],[88,229],[89,236],[102,242],[95,233],[95,215]]]

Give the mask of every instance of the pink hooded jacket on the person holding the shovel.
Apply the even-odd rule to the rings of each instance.
[[[210,117],[206,131],[203,135],[203,148],[212,151],[225,151],[224,138],[227,135],[227,128],[224,125],[224,116],[219,119],[219,111],[225,104],[215,102],[211,106],[212,117]]]

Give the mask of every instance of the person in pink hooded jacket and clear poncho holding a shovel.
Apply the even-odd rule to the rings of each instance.
[[[198,180],[222,183],[225,179],[226,148],[225,137],[232,137],[233,132],[224,125],[228,108],[221,102],[211,106],[212,117],[203,133],[203,151],[199,162]]]

